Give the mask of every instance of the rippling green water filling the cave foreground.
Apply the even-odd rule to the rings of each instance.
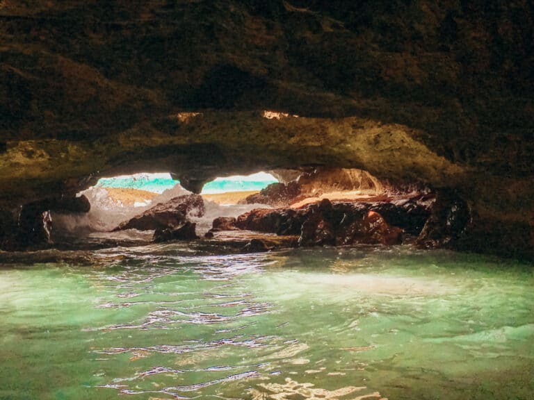
[[[533,399],[531,265],[108,249],[0,269],[0,399]]]

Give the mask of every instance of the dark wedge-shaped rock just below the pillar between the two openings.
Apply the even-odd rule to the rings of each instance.
[[[188,215],[202,217],[204,215],[204,200],[198,194],[184,194],[174,197],[165,203],[158,203],[141,215],[123,222],[113,231],[124,229],[138,229],[139,231],[153,231],[156,229],[174,229],[184,224]]]

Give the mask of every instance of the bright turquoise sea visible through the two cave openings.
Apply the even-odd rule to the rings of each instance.
[[[249,181],[242,178],[219,178],[204,185],[202,193],[240,192],[243,190],[261,190],[270,183],[277,182],[273,179],[261,181]],[[147,190],[149,192],[161,193],[164,190],[172,189],[179,181],[172,178],[153,176],[121,176],[117,178],[101,178],[97,187],[103,188],[133,188]]]

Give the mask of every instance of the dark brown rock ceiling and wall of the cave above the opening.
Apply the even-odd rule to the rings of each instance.
[[[453,188],[477,247],[534,247],[531,1],[3,0],[0,38],[0,208],[360,168]]]

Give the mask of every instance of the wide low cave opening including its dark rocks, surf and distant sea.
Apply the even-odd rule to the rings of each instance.
[[[26,219],[39,233],[31,244],[54,247],[196,239],[223,246],[233,241],[245,252],[353,244],[432,247],[451,240],[469,219],[464,204],[447,201],[435,217],[437,227],[425,231],[435,191],[362,169],[301,167],[218,177],[200,194],[184,189],[174,174],[138,173],[99,178],[71,205],[38,203]],[[444,231],[447,224],[456,231]]]

